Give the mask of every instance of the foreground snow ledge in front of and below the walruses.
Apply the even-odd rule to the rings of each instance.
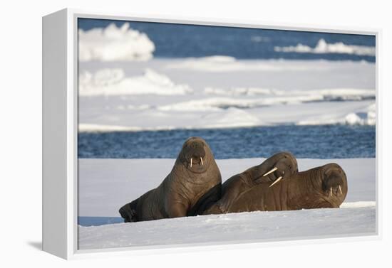
[[[79,250],[197,242],[255,242],[371,235],[375,207],[229,213],[197,217],[79,226]]]

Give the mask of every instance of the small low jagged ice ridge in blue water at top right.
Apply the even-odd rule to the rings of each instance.
[[[339,54],[354,54],[354,55],[376,55],[376,48],[373,46],[366,45],[346,45],[345,43],[326,43],[324,39],[320,39],[317,42],[316,47],[311,48],[309,45],[302,45],[301,43],[293,46],[279,47],[275,46],[274,50],[277,52],[295,52],[295,53],[339,53]]]

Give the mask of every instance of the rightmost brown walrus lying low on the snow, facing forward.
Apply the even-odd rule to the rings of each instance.
[[[326,164],[294,173],[269,187],[271,184],[263,182],[242,192],[232,201],[226,213],[339,208],[348,191],[346,173],[338,164]],[[205,212],[216,213],[212,210]]]

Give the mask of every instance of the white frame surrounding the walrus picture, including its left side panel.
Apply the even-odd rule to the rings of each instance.
[[[124,21],[151,21],[210,26],[269,28],[289,31],[317,31],[376,36],[376,234],[345,237],[298,237],[284,241],[233,241],[118,247],[103,250],[78,250],[78,18],[102,18]],[[319,243],[380,240],[381,226],[381,92],[380,81],[381,29],[314,26],[298,23],[267,23],[222,18],[181,18],[177,16],[125,14],[100,11],[63,9],[43,17],[43,250],[64,259],[114,257],[174,252],[310,245]],[[326,239],[328,238],[328,239]]]

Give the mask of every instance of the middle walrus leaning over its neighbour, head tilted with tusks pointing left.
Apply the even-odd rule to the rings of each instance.
[[[272,168],[277,167],[277,171],[263,176]],[[298,165],[295,157],[289,152],[280,152],[274,154],[262,164],[248,168],[246,171],[239,173],[227,179],[222,184],[222,198],[214,205],[208,208],[203,214],[220,214],[229,213],[232,205],[237,203],[237,199],[254,186],[267,183],[270,185],[279,176],[282,181],[287,180],[294,173],[298,172]]]

